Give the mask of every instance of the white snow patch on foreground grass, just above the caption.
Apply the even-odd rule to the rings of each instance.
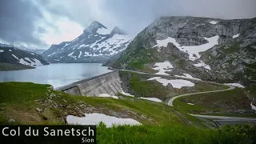
[[[66,122],[69,125],[98,125],[99,122],[104,122],[106,127],[114,125],[141,125],[140,122],[132,118],[116,118],[106,114],[85,114],[85,117],[76,117],[74,115],[66,116]]]

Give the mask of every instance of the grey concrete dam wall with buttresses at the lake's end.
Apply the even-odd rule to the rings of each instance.
[[[115,95],[122,91],[118,70],[58,87],[56,90],[82,96]]]

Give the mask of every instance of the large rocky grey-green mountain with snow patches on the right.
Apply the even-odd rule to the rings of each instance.
[[[172,75],[251,86],[256,79],[255,55],[256,18],[162,17],[106,65],[158,74],[162,69]]]

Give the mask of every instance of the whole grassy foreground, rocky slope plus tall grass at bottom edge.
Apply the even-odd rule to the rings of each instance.
[[[98,112],[134,118],[142,126],[97,129],[98,143],[254,143],[255,127],[205,129],[185,125],[170,106],[133,97],[88,98],[48,89],[31,82],[0,82],[0,124],[66,125],[66,114]],[[40,110],[36,110],[40,109]]]

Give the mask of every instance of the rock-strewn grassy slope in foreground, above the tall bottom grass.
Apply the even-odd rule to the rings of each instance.
[[[66,115],[103,113],[134,118],[150,125],[183,124],[170,106],[143,99],[114,99],[70,95],[47,90],[49,85],[0,82],[0,123],[9,118],[21,124],[62,123]],[[38,112],[36,108],[42,110]]]

